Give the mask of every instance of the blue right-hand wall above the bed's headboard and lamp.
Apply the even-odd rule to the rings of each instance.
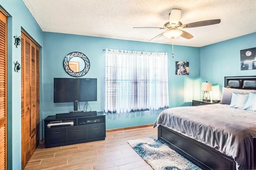
[[[214,43],[200,48],[200,77],[217,88],[221,97],[224,77],[256,75],[256,70],[240,70],[240,50],[256,47],[256,33]]]

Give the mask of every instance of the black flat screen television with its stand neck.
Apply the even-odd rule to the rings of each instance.
[[[97,101],[96,78],[54,78],[54,103]]]

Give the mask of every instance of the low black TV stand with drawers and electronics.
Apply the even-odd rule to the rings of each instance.
[[[105,113],[96,112],[96,115],[94,116],[83,115],[80,117],[74,117],[74,115],[80,113],[81,112],[65,113],[73,115],[73,117],[65,118],[57,118],[56,116],[46,117],[46,119],[44,119],[45,147],[50,148],[69,144],[105,140]]]

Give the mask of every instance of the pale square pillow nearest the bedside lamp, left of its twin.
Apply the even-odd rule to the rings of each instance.
[[[238,109],[244,109],[244,105],[248,101],[249,94],[238,94],[232,92],[231,103],[229,107],[234,107]]]

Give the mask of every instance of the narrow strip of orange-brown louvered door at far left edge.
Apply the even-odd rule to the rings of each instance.
[[[7,15],[0,9],[0,169],[7,169]]]

